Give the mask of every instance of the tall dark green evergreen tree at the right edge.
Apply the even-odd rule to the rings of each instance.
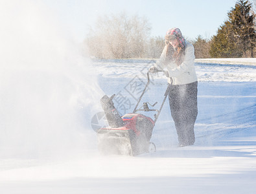
[[[218,28],[211,41],[210,55],[213,58],[246,57],[250,50],[253,57],[255,48],[255,14],[251,14],[251,3],[239,0],[227,13],[228,20]]]

